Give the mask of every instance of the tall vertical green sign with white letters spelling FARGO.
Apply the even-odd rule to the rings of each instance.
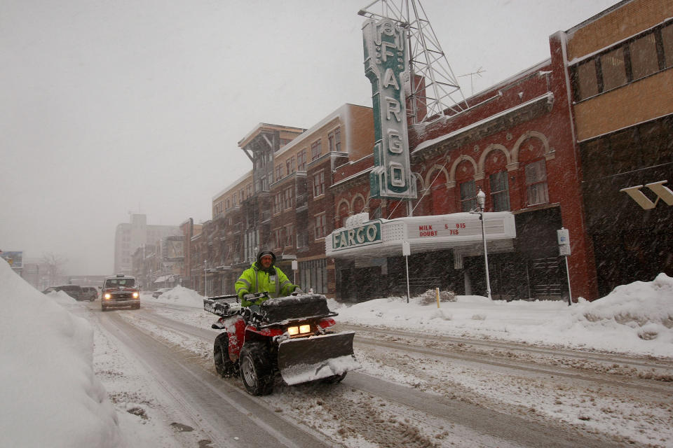
[[[374,169],[372,197],[414,199],[416,182],[409,164],[405,85],[409,78],[407,36],[392,20],[367,20],[362,26],[365,75],[372,83]]]

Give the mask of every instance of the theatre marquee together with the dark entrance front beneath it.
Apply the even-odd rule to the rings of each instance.
[[[359,219],[358,219],[359,218]],[[487,253],[497,263],[513,254],[515,216],[508,211],[484,213]],[[402,244],[409,243],[409,256]],[[456,213],[363,221],[349,218],[325,241],[335,260],[337,291],[345,301],[420,293],[439,287],[461,294],[485,291],[480,214]],[[493,264],[489,262],[489,265]]]

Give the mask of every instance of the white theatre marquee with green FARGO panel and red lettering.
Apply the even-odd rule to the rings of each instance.
[[[487,246],[499,251],[512,250],[517,236],[514,215],[509,211],[484,213]],[[454,213],[376,219],[351,228],[334,230],[325,238],[325,254],[332,258],[386,257],[402,255],[402,243],[409,242],[411,253],[449,248],[461,253],[480,251],[480,214]]]

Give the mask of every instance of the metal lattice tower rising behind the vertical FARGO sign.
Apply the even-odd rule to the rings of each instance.
[[[426,123],[467,109],[458,80],[419,0],[374,0],[358,15],[373,20],[388,18],[407,30],[409,78],[415,80],[407,109],[412,123]]]

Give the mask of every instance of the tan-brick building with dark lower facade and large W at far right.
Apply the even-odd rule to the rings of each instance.
[[[673,276],[673,1],[622,1],[562,36],[599,294]]]

